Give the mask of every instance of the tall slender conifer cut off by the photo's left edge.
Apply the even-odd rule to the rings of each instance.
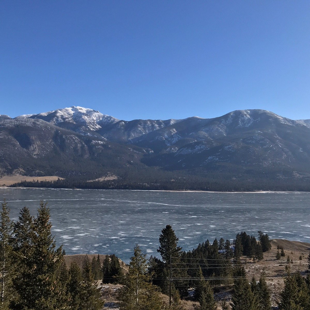
[[[9,217],[10,210],[7,208],[7,202],[2,203],[0,213],[0,284],[1,284],[1,309],[8,309],[9,302],[12,298],[12,278],[13,278],[13,247],[12,247],[12,230],[13,223]]]

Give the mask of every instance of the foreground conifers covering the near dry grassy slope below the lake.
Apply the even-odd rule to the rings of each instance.
[[[159,236],[158,254],[132,249],[128,264],[116,255],[84,255],[82,262],[66,261],[63,246],[57,247],[51,233],[50,210],[41,201],[37,215],[27,207],[17,220],[10,219],[6,201],[0,214],[0,309],[101,310],[103,288],[117,285],[120,310],[307,310],[310,309],[310,254],[297,264],[278,246],[275,264],[286,256],[285,274],[277,304],[264,268],[259,269],[272,245],[268,234],[240,232],[231,242],[206,240],[183,251],[175,231],[166,225]],[[249,276],[248,263],[256,264],[256,277]],[[224,294],[223,292],[229,292]],[[182,301],[192,301],[184,308]]]

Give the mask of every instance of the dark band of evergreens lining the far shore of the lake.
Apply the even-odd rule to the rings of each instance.
[[[200,177],[178,177],[175,179],[148,179],[128,177],[106,181],[90,181],[84,178],[57,179],[56,181],[22,181],[10,185],[10,187],[30,188],[81,188],[81,189],[130,189],[130,190],[202,190],[216,192],[249,192],[249,191],[301,191],[309,192],[310,183],[298,180],[255,180],[252,182],[231,178],[200,178]]]

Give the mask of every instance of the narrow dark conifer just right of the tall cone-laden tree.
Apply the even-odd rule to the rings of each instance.
[[[70,306],[72,310],[79,310],[82,293],[82,272],[77,263],[73,262],[69,268],[68,292],[71,297]]]

